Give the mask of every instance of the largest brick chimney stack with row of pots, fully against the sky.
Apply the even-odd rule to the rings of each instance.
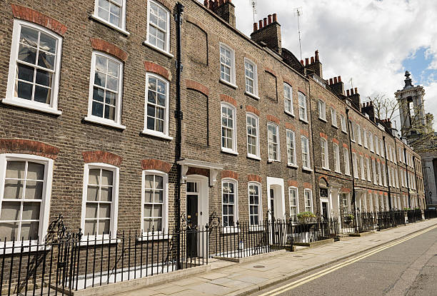
[[[269,49],[281,54],[281,25],[278,23],[276,14],[269,14],[266,18],[260,20],[258,28],[255,24],[253,24],[251,39],[256,43],[263,42],[267,44]]]

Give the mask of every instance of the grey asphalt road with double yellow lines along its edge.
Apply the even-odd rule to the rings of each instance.
[[[336,263],[314,270],[253,295],[437,295],[437,228],[357,259],[344,267]]]

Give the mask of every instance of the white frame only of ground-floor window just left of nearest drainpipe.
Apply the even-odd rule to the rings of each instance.
[[[161,170],[143,170],[141,175],[141,233],[143,235],[150,235],[151,231],[147,232],[144,229],[144,203],[146,200],[146,175],[159,175],[163,178],[162,187],[164,192],[162,194],[162,231],[155,231],[154,235],[169,233],[169,174],[161,172]]]

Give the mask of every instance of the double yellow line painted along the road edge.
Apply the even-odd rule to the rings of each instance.
[[[359,255],[357,257],[353,257],[353,258],[351,258],[349,260],[346,260],[344,262],[341,262],[341,263],[338,263],[338,264],[333,265],[331,267],[328,267],[325,270],[321,270],[321,271],[316,272],[316,273],[314,273],[312,275],[308,275],[307,277],[303,277],[300,280],[296,280],[294,282],[290,282],[287,285],[283,285],[282,287],[278,287],[278,288],[273,289],[271,291],[265,292],[265,293],[263,293],[263,294],[261,294],[259,296],[267,296],[267,295],[268,296],[274,296],[274,295],[279,295],[279,294],[281,294],[283,292],[286,292],[288,290],[292,290],[295,287],[298,287],[300,285],[306,284],[307,282],[311,282],[311,280],[316,280],[318,277],[323,277],[323,275],[328,275],[328,273],[331,273],[331,272],[336,271],[336,270],[338,270],[340,268],[343,268],[343,267],[346,267],[348,265],[351,265],[352,263],[357,262],[359,260],[363,260],[364,258],[369,257],[371,255],[374,255],[377,252],[381,252],[383,250],[388,249],[389,247],[393,247],[395,245],[403,243],[406,240],[411,240],[411,238],[416,238],[416,236],[422,235],[423,233],[426,233],[426,232],[428,232],[430,230],[433,230],[434,228],[437,228],[437,225],[433,225],[433,226],[431,226],[431,228],[426,228],[425,230],[421,230],[418,233],[414,233],[412,235],[408,235],[406,238],[402,238],[401,240],[396,240],[396,242],[393,242],[393,243],[388,243],[388,245],[383,245],[382,247],[378,247],[375,250],[371,250],[370,252],[366,252],[363,255]]]

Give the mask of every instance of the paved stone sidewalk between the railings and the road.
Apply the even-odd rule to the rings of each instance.
[[[245,263],[215,260],[211,262],[210,272],[139,290],[126,291],[119,295],[247,295],[433,225],[437,225],[437,219],[391,228],[359,238],[347,238],[297,252],[278,252],[278,255]]]

